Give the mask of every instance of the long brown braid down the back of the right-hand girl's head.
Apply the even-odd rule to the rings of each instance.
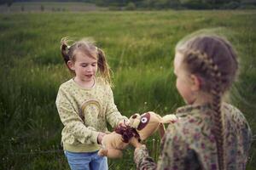
[[[218,70],[218,65],[216,65],[213,60],[208,57],[206,53],[201,53],[201,51],[192,51],[188,54],[188,63],[193,63],[195,60],[199,60],[201,71],[206,71],[207,75],[213,80],[212,88],[210,93],[212,94],[212,111],[213,111],[213,133],[217,142],[218,151],[218,168],[220,170],[224,169],[224,125],[221,114],[221,83],[222,74]]]

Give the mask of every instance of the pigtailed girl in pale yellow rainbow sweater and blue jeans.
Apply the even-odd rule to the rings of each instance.
[[[97,156],[97,150],[108,132],[107,122],[116,127],[127,118],[114,104],[105,54],[93,42],[81,40],[69,47],[67,38],[62,38],[61,55],[74,73],[72,79],[61,84],[56,98],[67,161],[73,170],[106,170],[107,157]]]

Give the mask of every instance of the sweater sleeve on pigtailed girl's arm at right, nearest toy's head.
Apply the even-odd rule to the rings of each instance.
[[[114,104],[113,101],[113,92],[110,87],[108,87],[108,105],[107,105],[107,121],[112,127],[116,127],[119,122],[122,120],[128,120],[126,116],[122,116],[117,109],[117,106]]]

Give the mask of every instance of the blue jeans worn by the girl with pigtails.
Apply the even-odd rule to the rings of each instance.
[[[98,156],[98,151],[70,152],[64,150],[64,153],[72,170],[108,170],[107,157]]]

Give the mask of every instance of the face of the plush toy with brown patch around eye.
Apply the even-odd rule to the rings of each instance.
[[[136,128],[142,140],[147,139],[159,127],[160,116],[154,112],[144,113],[142,116],[135,114],[130,118],[131,127]]]

